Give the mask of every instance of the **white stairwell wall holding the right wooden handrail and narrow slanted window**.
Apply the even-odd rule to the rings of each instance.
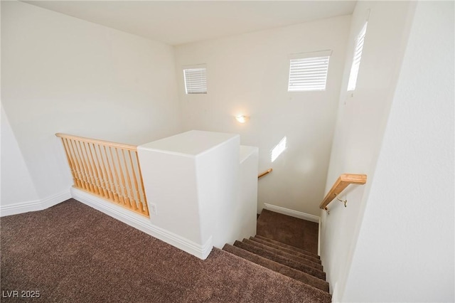
[[[350,38],[340,92],[326,192],[338,176],[367,174],[367,184],[351,185],[333,201],[330,215],[321,211],[321,260],[338,302],[363,218],[368,190],[387,123],[393,93],[405,53],[414,4],[410,1],[358,1],[352,16]],[[368,18],[363,55],[355,91],[347,92],[355,40]]]

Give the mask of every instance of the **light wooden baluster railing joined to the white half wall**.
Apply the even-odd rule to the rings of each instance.
[[[137,147],[97,139],[60,137],[74,187],[149,217]]]

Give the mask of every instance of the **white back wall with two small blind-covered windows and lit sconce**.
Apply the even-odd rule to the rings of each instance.
[[[240,134],[259,147],[263,203],[319,215],[338,107],[350,16],[176,47],[183,128]],[[289,55],[333,50],[325,92],[287,92]],[[207,65],[208,94],[185,95],[182,67]],[[234,116],[251,117],[239,124]],[[286,136],[288,148],[271,163]]]

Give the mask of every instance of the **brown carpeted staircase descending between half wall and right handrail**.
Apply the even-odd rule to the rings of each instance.
[[[271,211],[264,210],[264,212],[267,214],[267,218],[262,218],[262,215],[259,216],[257,224],[258,233],[260,232],[263,235],[255,235],[255,237],[242,241],[237,240],[233,245],[226,244],[223,250],[299,281],[302,290],[306,293],[307,302],[331,302],[331,294],[328,293],[328,282],[326,282],[326,273],[323,272],[321,259],[319,255],[309,251],[314,250],[314,248],[309,250],[296,248],[293,245],[264,236],[268,234],[267,229],[273,229],[275,235],[289,235],[293,232],[289,230],[289,224],[279,220],[294,220],[294,222],[299,223],[297,220],[301,219]],[[307,223],[307,221],[301,221],[301,223]],[[259,229],[259,225],[261,225],[261,229]],[[280,229],[278,233],[277,229]]]

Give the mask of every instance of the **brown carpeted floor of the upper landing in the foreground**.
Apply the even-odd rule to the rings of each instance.
[[[199,260],[73,199],[0,224],[1,302],[319,302],[294,279],[216,248]]]

